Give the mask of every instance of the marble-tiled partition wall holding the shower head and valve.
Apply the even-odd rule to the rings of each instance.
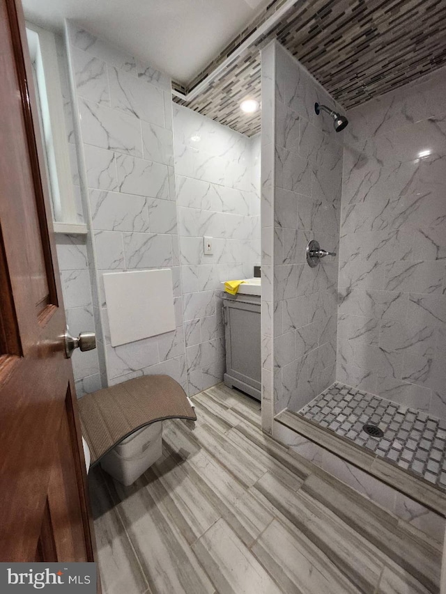
[[[262,269],[272,291],[263,290],[263,366],[279,412],[300,409],[335,380],[338,260],[310,268],[305,256],[312,239],[338,252],[342,136],[314,113],[316,101],[334,107],[332,97],[277,42],[267,51],[272,72],[263,50],[262,82],[274,97],[268,105],[263,93],[262,104],[274,126],[263,134]]]

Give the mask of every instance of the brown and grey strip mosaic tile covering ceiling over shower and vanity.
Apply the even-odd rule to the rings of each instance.
[[[190,91],[282,6],[270,3],[197,75]],[[446,64],[446,3],[438,0],[312,0],[295,6],[196,99],[174,101],[253,136],[260,114],[239,109],[261,92],[259,48],[277,38],[346,109],[383,95]],[[178,85],[174,84],[174,88]]]

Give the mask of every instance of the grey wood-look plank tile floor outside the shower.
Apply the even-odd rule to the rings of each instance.
[[[264,435],[259,402],[193,400],[136,483],[91,471],[104,594],[439,592],[439,545]]]

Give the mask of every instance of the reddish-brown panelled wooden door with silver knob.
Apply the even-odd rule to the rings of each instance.
[[[0,0],[0,561],[93,561],[27,52],[20,0]]]

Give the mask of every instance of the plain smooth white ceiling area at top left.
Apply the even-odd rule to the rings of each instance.
[[[22,0],[26,19],[62,30],[75,19],[186,84],[270,0]]]

